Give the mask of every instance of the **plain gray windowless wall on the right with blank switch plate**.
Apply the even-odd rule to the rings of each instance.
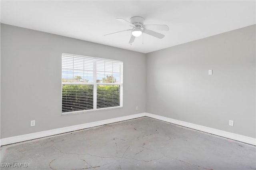
[[[255,48],[253,25],[147,53],[146,112],[255,138]]]

